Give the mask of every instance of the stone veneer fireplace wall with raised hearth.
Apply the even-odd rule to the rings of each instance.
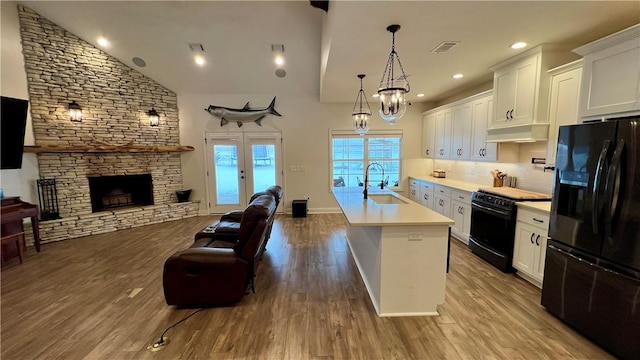
[[[36,145],[180,144],[176,94],[33,10],[18,5]],[[69,120],[75,100],[82,122]],[[149,126],[147,112],[160,113]],[[41,153],[40,176],[55,178],[61,220],[41,223],[43,242],[195,216],[198,204],[177,204],[180,153]],[[150,173],[153,206],[91,213],[92,175]]]

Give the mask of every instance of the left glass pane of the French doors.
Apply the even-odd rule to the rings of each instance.
[[[236,145],[214,145],[216,200],[218,204],[240,203],[238,184],[238,148]]]

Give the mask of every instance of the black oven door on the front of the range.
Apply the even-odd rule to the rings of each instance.
[[[515,211],[471,202],[469,248],[498,269],[510,272],[515,235]]]

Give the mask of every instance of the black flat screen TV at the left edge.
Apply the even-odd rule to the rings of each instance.
[[[5,96],[0,98],[0,168],[20,169],[29,102]]]

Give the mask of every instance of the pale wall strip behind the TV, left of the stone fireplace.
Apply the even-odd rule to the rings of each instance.
[[[29,99],[27,74],[24,68],[17,3],[0,1],[0,93],[3,96]],[[25,145],[34,145],[31,114],[27,114]],[[0,170],[0,186],[4,196],[20,196],[32,204],[38,203],[35,181],[38,178],[38,162],[35,154],[24,154],[22,169]]]

